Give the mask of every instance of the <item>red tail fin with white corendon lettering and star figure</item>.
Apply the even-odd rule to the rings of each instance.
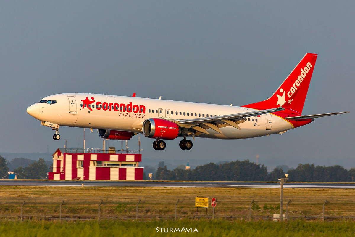
[[[271,109],[282,106],[301,114],[316,60],[317,54],[307,53],[270,98],[243,107]]]

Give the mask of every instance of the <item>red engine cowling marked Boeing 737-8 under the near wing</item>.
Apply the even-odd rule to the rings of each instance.
[[[143,135],[148,138],[172,140],[181,134],[178,124],[165,119],[149,118],[143,122]]]

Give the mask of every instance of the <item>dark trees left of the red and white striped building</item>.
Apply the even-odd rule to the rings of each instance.
[[[18,167],[23,164],[25,167]],[[43,158],[38,161],[29,160],[25,158],[14,158],[12,161],[7,161],[6,158],[0,155],[0,178],[9,178],[9,167],[13,168],[13,172],[18,179],[47,179],[49,166]],[[17,168],[14,168],[17,167]]]

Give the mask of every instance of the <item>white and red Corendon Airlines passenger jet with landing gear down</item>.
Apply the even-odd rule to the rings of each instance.
[[[41,125],[55,130],[59,127],[97,129],[103,139],[129,140],[142,133],[155,139],[153,148],[164,150],[164,140],[182,138],[179,146],[190,150],[196,137],[214,139],[245,139],[286,131],[309,124],[315,118],[343,114],[302,115],[317,54],[307,53],[282,82],[273,95],[244,106],[152,98],[62,93],[47,96],[27,108],[27,113]]]

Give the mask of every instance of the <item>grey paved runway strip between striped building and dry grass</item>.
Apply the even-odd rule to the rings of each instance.
[[[258,182],[164,182],[164,181],[0,181],[0,186],[82,186],[85,187],[198,187],[198,188],[279,188],[277,183]],[[344,183],[285,183],[284,188],[355,189]]]

